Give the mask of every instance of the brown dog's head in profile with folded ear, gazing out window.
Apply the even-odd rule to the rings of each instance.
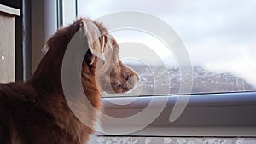
[[[84,57],[83,72],[91,71],[102,91],[124,93],[137,84],[138,76],[119,60],[119,45],[96,21],[81,19],[90,51]],[[89,69],[88,69],[89,67]]]

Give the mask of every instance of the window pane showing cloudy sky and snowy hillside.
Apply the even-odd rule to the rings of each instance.
[[[166,21],[182,38],[189,53],[193,66],[193,94],[256,89],[254,0],[79,0],[78,3],[79,16],[93,20],[129,10],[153,14]],[[141,78],[137,89],[126,95],[178,93],[183,81],[180,66],[175,55],[166,50],[165,43],[146,32],[132,29],[110,33],[119,43],[120,59]]]

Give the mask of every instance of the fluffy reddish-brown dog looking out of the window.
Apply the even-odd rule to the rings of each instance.
[[[95,109],[81,104],[80,100],[74,101],[84,111],[79,117],[90,126],[70,110],[61,84],[64,53],[81,28],[86,31],[90,50],[84,55],[80,78],[84,93]],[[94,37],[98,38],[92,41]],[[102,107],[102,91],[122,93],[137,83],[137,74],[119,61],[119,46],[100,23],[77,20],[58,30],[46,45],[49,49],[28,82],[0,84],[1,144],[84,144],[93,132],[96,110]],[[79,97],[76,94],[73,99]]]

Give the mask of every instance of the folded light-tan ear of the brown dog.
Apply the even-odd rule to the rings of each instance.
[[[80,26],[80,28],[84,28],[91,54],[102,60],[105,60],[105,45],[108,41],[105,34],[103,34],[99,27],[96,26],[96,24],[91,20],[81,20]]]

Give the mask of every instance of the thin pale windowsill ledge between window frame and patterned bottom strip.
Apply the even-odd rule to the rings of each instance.
[[[113,133],[118,133],[120,127],[107,128]],[[122,129],[129,129],[122,127]],[[104,136],[120,136],[106,135]],[[148,127],[129,135],[121,136],[145,136],[145,137],[255,137],[256,127]]]

